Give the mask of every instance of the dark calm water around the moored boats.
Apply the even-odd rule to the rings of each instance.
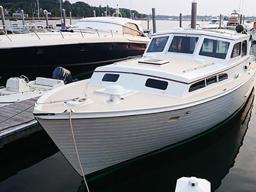
[[[166,26],[176,24],[165,23]],[[256,45],[252,52],[256,53]],[[34,73],[39,72],[29,71],[26,75],[30,78]],[[41,73],[50,76],[52,71]],[[0,76],[5,78],[13,74],[12,69],[5,74],[0,70]],[[91,73],[75,71],[73,74],[83,79]],[[209,180],[212,191],[256,192],[255,104],[253,92],[247,105],[212,133],[105,175],[87,178],[90,191],[174,192],[178,178],[196,176]],[[44,131],[0,148],[0,192],[35,191],[85,191],[82,177]]]

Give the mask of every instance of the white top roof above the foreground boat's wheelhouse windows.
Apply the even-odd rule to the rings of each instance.
[[[161,31],[157,32],[152,36],[157,35],[170,35],[170,34],[187,34],[187,35],[207,35],[216,38],[225,38],[228,40],[236,40],[240,38],[247,38],[247,34],[238,33],[235,30],[230,29],[183,29],[183,28],[175,28],[171,31]]]

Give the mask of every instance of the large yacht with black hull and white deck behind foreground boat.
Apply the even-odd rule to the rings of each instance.
[[[142,55],[149,38],[140,21],[89,17],[66,32],[0,35],[0,42],[3,67],[65,67],[111,64]]]

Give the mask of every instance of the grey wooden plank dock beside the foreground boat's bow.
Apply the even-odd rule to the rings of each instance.
[[[37,98],[0,108],[0,146],[41,130],[33,116]]]

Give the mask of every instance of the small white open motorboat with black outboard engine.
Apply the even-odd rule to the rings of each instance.
[[[57,67],[53,72],[54,79],[37,77],[29,81],[26,76],[9,78],[6,87],[0,87],[0,107],[42,96],[64,84],[73,82],[70,71]]]

